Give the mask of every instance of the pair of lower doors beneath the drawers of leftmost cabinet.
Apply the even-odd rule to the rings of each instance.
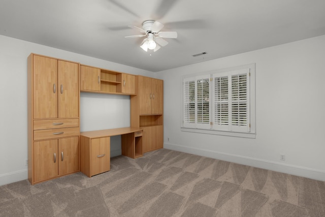
[[[79,171],[79,137],[34,142],[34,183]]]

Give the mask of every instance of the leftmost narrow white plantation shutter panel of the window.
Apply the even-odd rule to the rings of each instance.
[[[183,126],[195,127],[195,80],[183,82]]]

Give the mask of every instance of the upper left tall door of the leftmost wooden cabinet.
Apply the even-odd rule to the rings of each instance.
[[[57,60],[35,55],[33,68],[34,118],[56,118]]]

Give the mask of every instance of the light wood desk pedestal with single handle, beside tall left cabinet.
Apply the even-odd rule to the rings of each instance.
[[[110,137],[80,136],[81,172],[91,177],[110,170]]]

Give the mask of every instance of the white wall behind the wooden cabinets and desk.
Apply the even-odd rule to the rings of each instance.
[[[109,52],[109,51],[108,51]],[[0,35],[0,185],[27,178],[27,56],[38,53],[135,75],[155,73]],[[129,97],[81,93],[81,131],[129,126]],[[120,154],[120,136],[111,139]]]

